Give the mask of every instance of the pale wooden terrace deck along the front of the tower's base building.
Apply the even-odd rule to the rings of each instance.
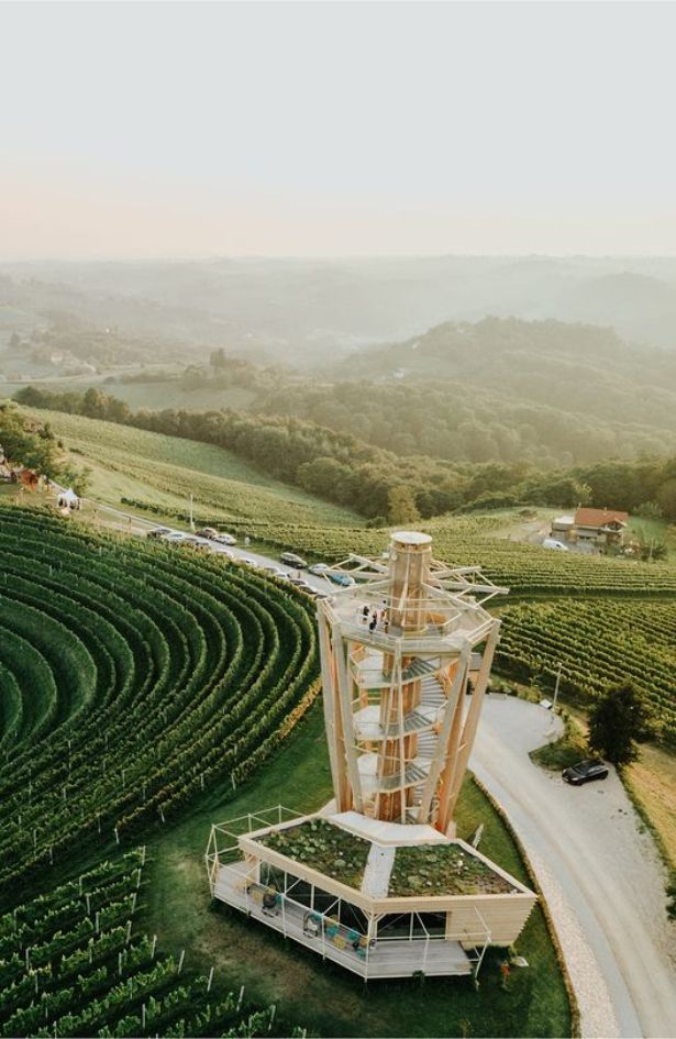
[[[274,910],[264,909],[262,894],[265,888],[251,883],[246,869],[243,861],[221,865],[215,875],[214,898],[234,906],[361,977],[410,977],[417,971],[430,976],[472,973],[472,961],[457,941],[443,938],[379,938],[370,948],[357,952],[345,927],[341,927],[331,938],[321,927],[315,936],[310,936],[303,928],[307,908],[286,897],[280,899],[280,905]]]

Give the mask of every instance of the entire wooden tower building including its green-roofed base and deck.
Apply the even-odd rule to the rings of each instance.
[[[535,903],[454,820],[498,641],[484,604],[507,589],[431,541],[351,556],[319,604],[334,799],[215,825],[206,855],[214,898],[364,979],[476,975]]]

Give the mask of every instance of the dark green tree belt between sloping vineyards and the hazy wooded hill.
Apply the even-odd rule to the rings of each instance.
[[[292,416],[230,409],[132,411],[93,387],[56,394],[29,386],[15,399],[29,407],[215,444],[277,479],[348,506],[374,526],[519,505],[646,510],[676,521],[676,456],[542,472],[528,461],[470,464],[398,456],[351,433]]]

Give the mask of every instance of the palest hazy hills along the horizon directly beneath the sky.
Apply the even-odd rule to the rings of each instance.
[[[304,369],[487,314],[609,325],[639,344],[676,350],[676,258],[14,263],[0,264],[2,306],[37,321],[60,311],[188,354],[223,346]],[[0,321],[0,342],[3,328]]]

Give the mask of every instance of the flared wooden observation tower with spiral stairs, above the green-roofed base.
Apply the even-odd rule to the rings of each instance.
[[[386,556],[341,564],[354,583],[319,607],[336,806],[451,833],[498,641],[483,603],[506,589],[433,560],[429,534]]]

